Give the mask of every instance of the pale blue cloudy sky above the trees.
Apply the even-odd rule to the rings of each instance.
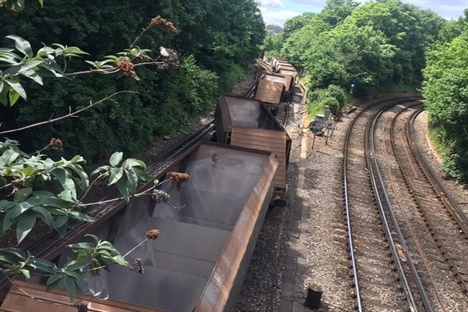
[[[356,0],[368,2],[368,0]],[[304,12],[319,13],[326,0],[257,0],[266,25],[283,26],[284,22]],[[430,9],[447,19],[457,19],[468,8],[468,0],[402,0],[422,9]]]

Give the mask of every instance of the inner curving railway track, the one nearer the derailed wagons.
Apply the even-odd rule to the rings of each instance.
[[[344,144],[343,190],[356,311],[405,311],[414,309],[414,295],[398,256],[391,222],[375,184],[372,133],[369,120],[382,107],[412,98],[392,99],[360,111],[351,124]],[[363,179],[363,172],[366,178]]]

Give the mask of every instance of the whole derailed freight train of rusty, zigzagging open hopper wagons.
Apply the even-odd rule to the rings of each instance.
[[[271,107],[288,108],[296,76],[280,58],[271,65],[274,73],[261,76],[253,98],[218,99],[216,142],[199,141],[179,154],[155,176],[165,182],[151,196],[104,207],[105,222],[91,232],[126,255],[130,267],[89,276],[85,294],[72,303],[63,289],[45,292],[40,276],[16,280],[19,288],[11,287],[0,311],[232,311],[268,207],[286,188],[291,138]],[[174,172],[188,178],[173,179]],[[86,240],[90,230],[68,238],[49,260],[63,263],[71,256],[65,246]],[[157,239],[147,239],[152,230]]]

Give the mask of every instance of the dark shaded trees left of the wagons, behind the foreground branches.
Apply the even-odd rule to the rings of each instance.
[[[14,34],[27,38],[36,50],[42,44],[61,43],[80,47],[89,53],[85,59],[102,59],[131,46],[135,34],[157,15],[171,21],[178,32],[149,30],[138,45],[176,51],[180,70],[139,67],[140,82],[102,75],[46,79],[44,87],[28,82],[26,90],[37,96],[30,97],[27,105],[0,107],[0,131],[47,120],[115,91],[132,89],[137,93],[121,94],[80,118],[11,138],[32,151],[50,137],[60,136],[65,155],[79,153],[93,162],[107,159],[116,149],[134,154],[155,135],[173,133],[206,110],[244,77],[248,64],[259,56],[265,26],[253,0],[50,0],[43,6],[33,1],[21,12],[0,10],[0,42]],[[3,43],[10,45],[6,39]],[[86,69],[73,60],[67,68]]]

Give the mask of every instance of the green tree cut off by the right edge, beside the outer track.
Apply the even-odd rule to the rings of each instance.
[[[443,170],[468,181],[468,31],[428,54],[422,93],[431,127],[444,146]]]

